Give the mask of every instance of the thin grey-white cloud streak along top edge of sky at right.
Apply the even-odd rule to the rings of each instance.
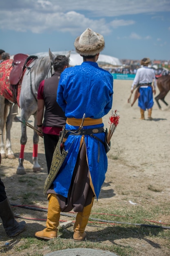
[[[10,0],[11,1],[11,0]],[[13,1],[13,0],[12,0]],[[23,0],[18,0],[18,2]],[[53,10],[56,11],[60,7],[62,12],[67,12],[70,10],[74,11],[88,11],[92,16],[120,16],[120,15],[129,15],[129,14],[138,14],[138,13],[151,13],[159,11],[170,11],[169,0],[39,0],[36,3],[36,0],[30,0],[34,6],[39,8],[48,8],[49,2],[53,5]]]

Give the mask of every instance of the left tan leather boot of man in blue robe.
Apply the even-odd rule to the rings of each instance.
[[[60,220],[60,204],[55,194],[49,194],[49,208],[47,213],[46,228],[35,233],[38,238],[50,240],[57,237],[57,227]]]

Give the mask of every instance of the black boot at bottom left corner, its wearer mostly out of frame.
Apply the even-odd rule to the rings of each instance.
[[[17,222],[15,220],[8,198],[0,202],[0,218],[9,237],[17,236],[25,229],[25,221]]]

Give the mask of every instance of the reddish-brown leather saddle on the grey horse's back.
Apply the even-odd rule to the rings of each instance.
[[[26,64],[29,65],[37,56],[29,56],[27,54],[18,53],[13,57],[13,68],[9,75],[11,85],[17,85],[22,78]]]

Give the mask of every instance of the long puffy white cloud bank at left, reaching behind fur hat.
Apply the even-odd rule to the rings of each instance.
[[[20,17],[20,18],[18,18]],[[15,12],[15,16],[10,11],[6,12],[6,17],[1,13],[2,20],[0,21],[1,29],[11,29],[15,31],[32,31],[33,33],[42,33],[44,31],[69,31],[71,34],[82,32],[82,29],[91,27],[94,30],[108,34],[110,32],[109,26],[104,19],[92,20],[86,18],[84,15],[70,11],[68,13],[39,13],[37,16],[35,11],[25,10],[22,13]],[[11,22],[12,20],[12,22]]]

